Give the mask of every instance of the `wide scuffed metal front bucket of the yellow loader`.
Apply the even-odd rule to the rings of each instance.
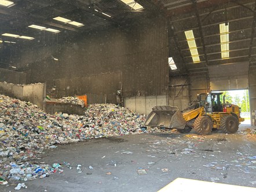
[[[145,126],[184,129],[186,121],[176,106],[155,106],[149,113]]]

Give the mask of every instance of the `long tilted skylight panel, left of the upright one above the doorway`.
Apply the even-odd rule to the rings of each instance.
[[[198,54],[198,47],[196,46],[195,36],[193,30],[185,31],[186,42],[188,42],[189,51],[192,56],[193,62],[200,62],[200,57]]]

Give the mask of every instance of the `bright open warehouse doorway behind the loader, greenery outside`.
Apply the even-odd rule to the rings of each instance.
[[[241,117],[244,118],[244,121],[241,124],[251,124],[250,116],[250,99],[249,91],[244,90],[225,90],[225,91],[213,91],[214,93],[223,93],[222,94],[222,103],[230,103],[239,106],[241,111]],[[225,97],[223,98],[223,96]]]

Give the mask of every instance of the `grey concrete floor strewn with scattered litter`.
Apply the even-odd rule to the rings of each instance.
[[[20,191],[158,191],[178,177],[256,187],[256,160],[248,158],[256,156],[255,141],[256,135],[213,132],[198,136],[193,132],[173,132],[58,145],[58,149],[47,150],[36,161],[66,161],[72,169],[64,167],[63,173],[25,182],[27,189]],[[125,151],[133,154],[122,154]],[[210,163],[215,167],[203,166]],[[76,169],[78,164],[82,165],[82,173]],[[222,167],[224,170],[218,170]],[[138,175],[138,168],[147,169],[147,174]],[[169,171],[163,172],[163,168]],[[0,186],[0,191],[15,191],[16,185]]]

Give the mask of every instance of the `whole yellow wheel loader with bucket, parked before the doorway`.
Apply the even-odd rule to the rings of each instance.
[[[177,129],[189,132],[193,128],[200,135],[210,134],[213,128],[232,134],[244,118],[237,105],[225,102],[223,93],[203,93],[188,108],[180,111],[175,106],[155,106],[149,113],[145,126]],[[222,100],[222,101],[221,101]]]

